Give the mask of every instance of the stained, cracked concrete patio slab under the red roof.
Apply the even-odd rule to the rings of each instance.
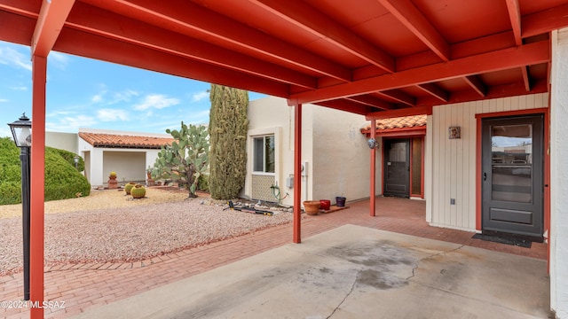
[[[344,225],[77,318],[547,318],[546,261]]]

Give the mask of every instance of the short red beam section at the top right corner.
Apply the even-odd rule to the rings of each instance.
[[[568,27],[568,4],[526,15],[521,18],[521,25],[524,38]]]

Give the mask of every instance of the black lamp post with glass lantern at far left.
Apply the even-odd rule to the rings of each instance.
[[[32,145],[32,122],[26,113],[18,121],[8,124],[16,146],[20,147],[21,208],[24,241],[24,300],[29,300],[29,158]]]

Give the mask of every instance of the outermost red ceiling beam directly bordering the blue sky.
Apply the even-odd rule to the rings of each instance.
[[[176,55],[64,28],[53,50],[188,79],[288,97],[288,85]],[[136,52],[136,54],[132,54]]]

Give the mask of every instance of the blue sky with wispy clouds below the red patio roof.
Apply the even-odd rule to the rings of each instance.
[[[0,136],[21,113],[32,118],[31,60],[26,46],[0,41]],[[210,84],[168,74],[51,52],[46,130],[78,128],[165,133],[185,123],[209,123]],[[250,100],[264,95],[249,92]]]

